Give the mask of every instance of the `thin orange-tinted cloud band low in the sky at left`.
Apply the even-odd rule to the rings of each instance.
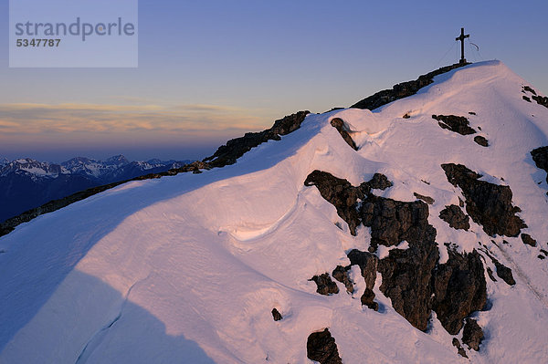
[[[255,110],[257,111],[257,110]],[[3,135],[156,133],[206,134],[223,130],[260,130],[264,121],[252,110],[218,105],[0,104]]]

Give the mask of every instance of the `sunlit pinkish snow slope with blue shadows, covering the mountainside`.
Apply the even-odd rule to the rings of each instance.
[[[454,230],[437,217],[461,195],[440,164],[462,163],[511,186],[529,225],[523,232],[547,249],[548,186],[529,152],[548,145],[548,109],[524,101],[527,83],[501,62],[435,80],[374,112],[309,115],[234,165],[129,182],[18,226],[0,238],[0,363],[307,363],[307,338],[323,328],[344,363],[468,362],[435,316],[425,333],[397,314],[378,290],[380,275],[379,312],[361,305],[356,265],[352,296],[339,282],[338,295],[316,293],[311,276],[348,265],[346,253],[367,249],[370,233],[349,234],[335,208],[304,186],[314,170],[353,185],[381,172],[394,186],[379,195],[434,198],[428,221],[440,260],[443,243],[471,251],[481,242],[517,281],[487,280],[492,307],[475,314],[486,338],[479,352],[467,350],[470,360],[548,361],[539,247],[502,244],[471,221],[468,232]],[[432,114],[466,115],[490,147],[441,129]],[[332,128],[335,117],[350,125],[359,151]]]

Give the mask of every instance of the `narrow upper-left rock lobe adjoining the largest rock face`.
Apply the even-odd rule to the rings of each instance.
[[[356,234],[356,227],[360,224],[360,218],[355,208],[358,198],[363,198],[364,193],[359,188],[341,178],[334,177],[331,173],[314,171],[304,181],[305,186],[316,186],[321,197],[331,203],[337,209],[342,220],[348,224],[350,233]]]

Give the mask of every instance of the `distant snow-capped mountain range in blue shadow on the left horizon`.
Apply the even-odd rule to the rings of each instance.
[[[26,210],[90,187],[179,168],[190,161],[105,161],[76,157],[60,164],[30,158],[0,159],[0,222]]]

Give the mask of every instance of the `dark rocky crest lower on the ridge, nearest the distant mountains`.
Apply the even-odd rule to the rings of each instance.
[[[220,146],[215,154],[205,158],[204,162],[207,162],[211,167],[224,167],[234,164],[238,158],[250,151],[251,148],[255,148],[259,144],[269,140],[280,140],[280,135],[287,135],[299,129],[300,124],[308,114],[310,114],[308,110],[299,111],[276,120],[270,129],[259,132],[248,132],[243,137],[228,140],[226,145]]]

